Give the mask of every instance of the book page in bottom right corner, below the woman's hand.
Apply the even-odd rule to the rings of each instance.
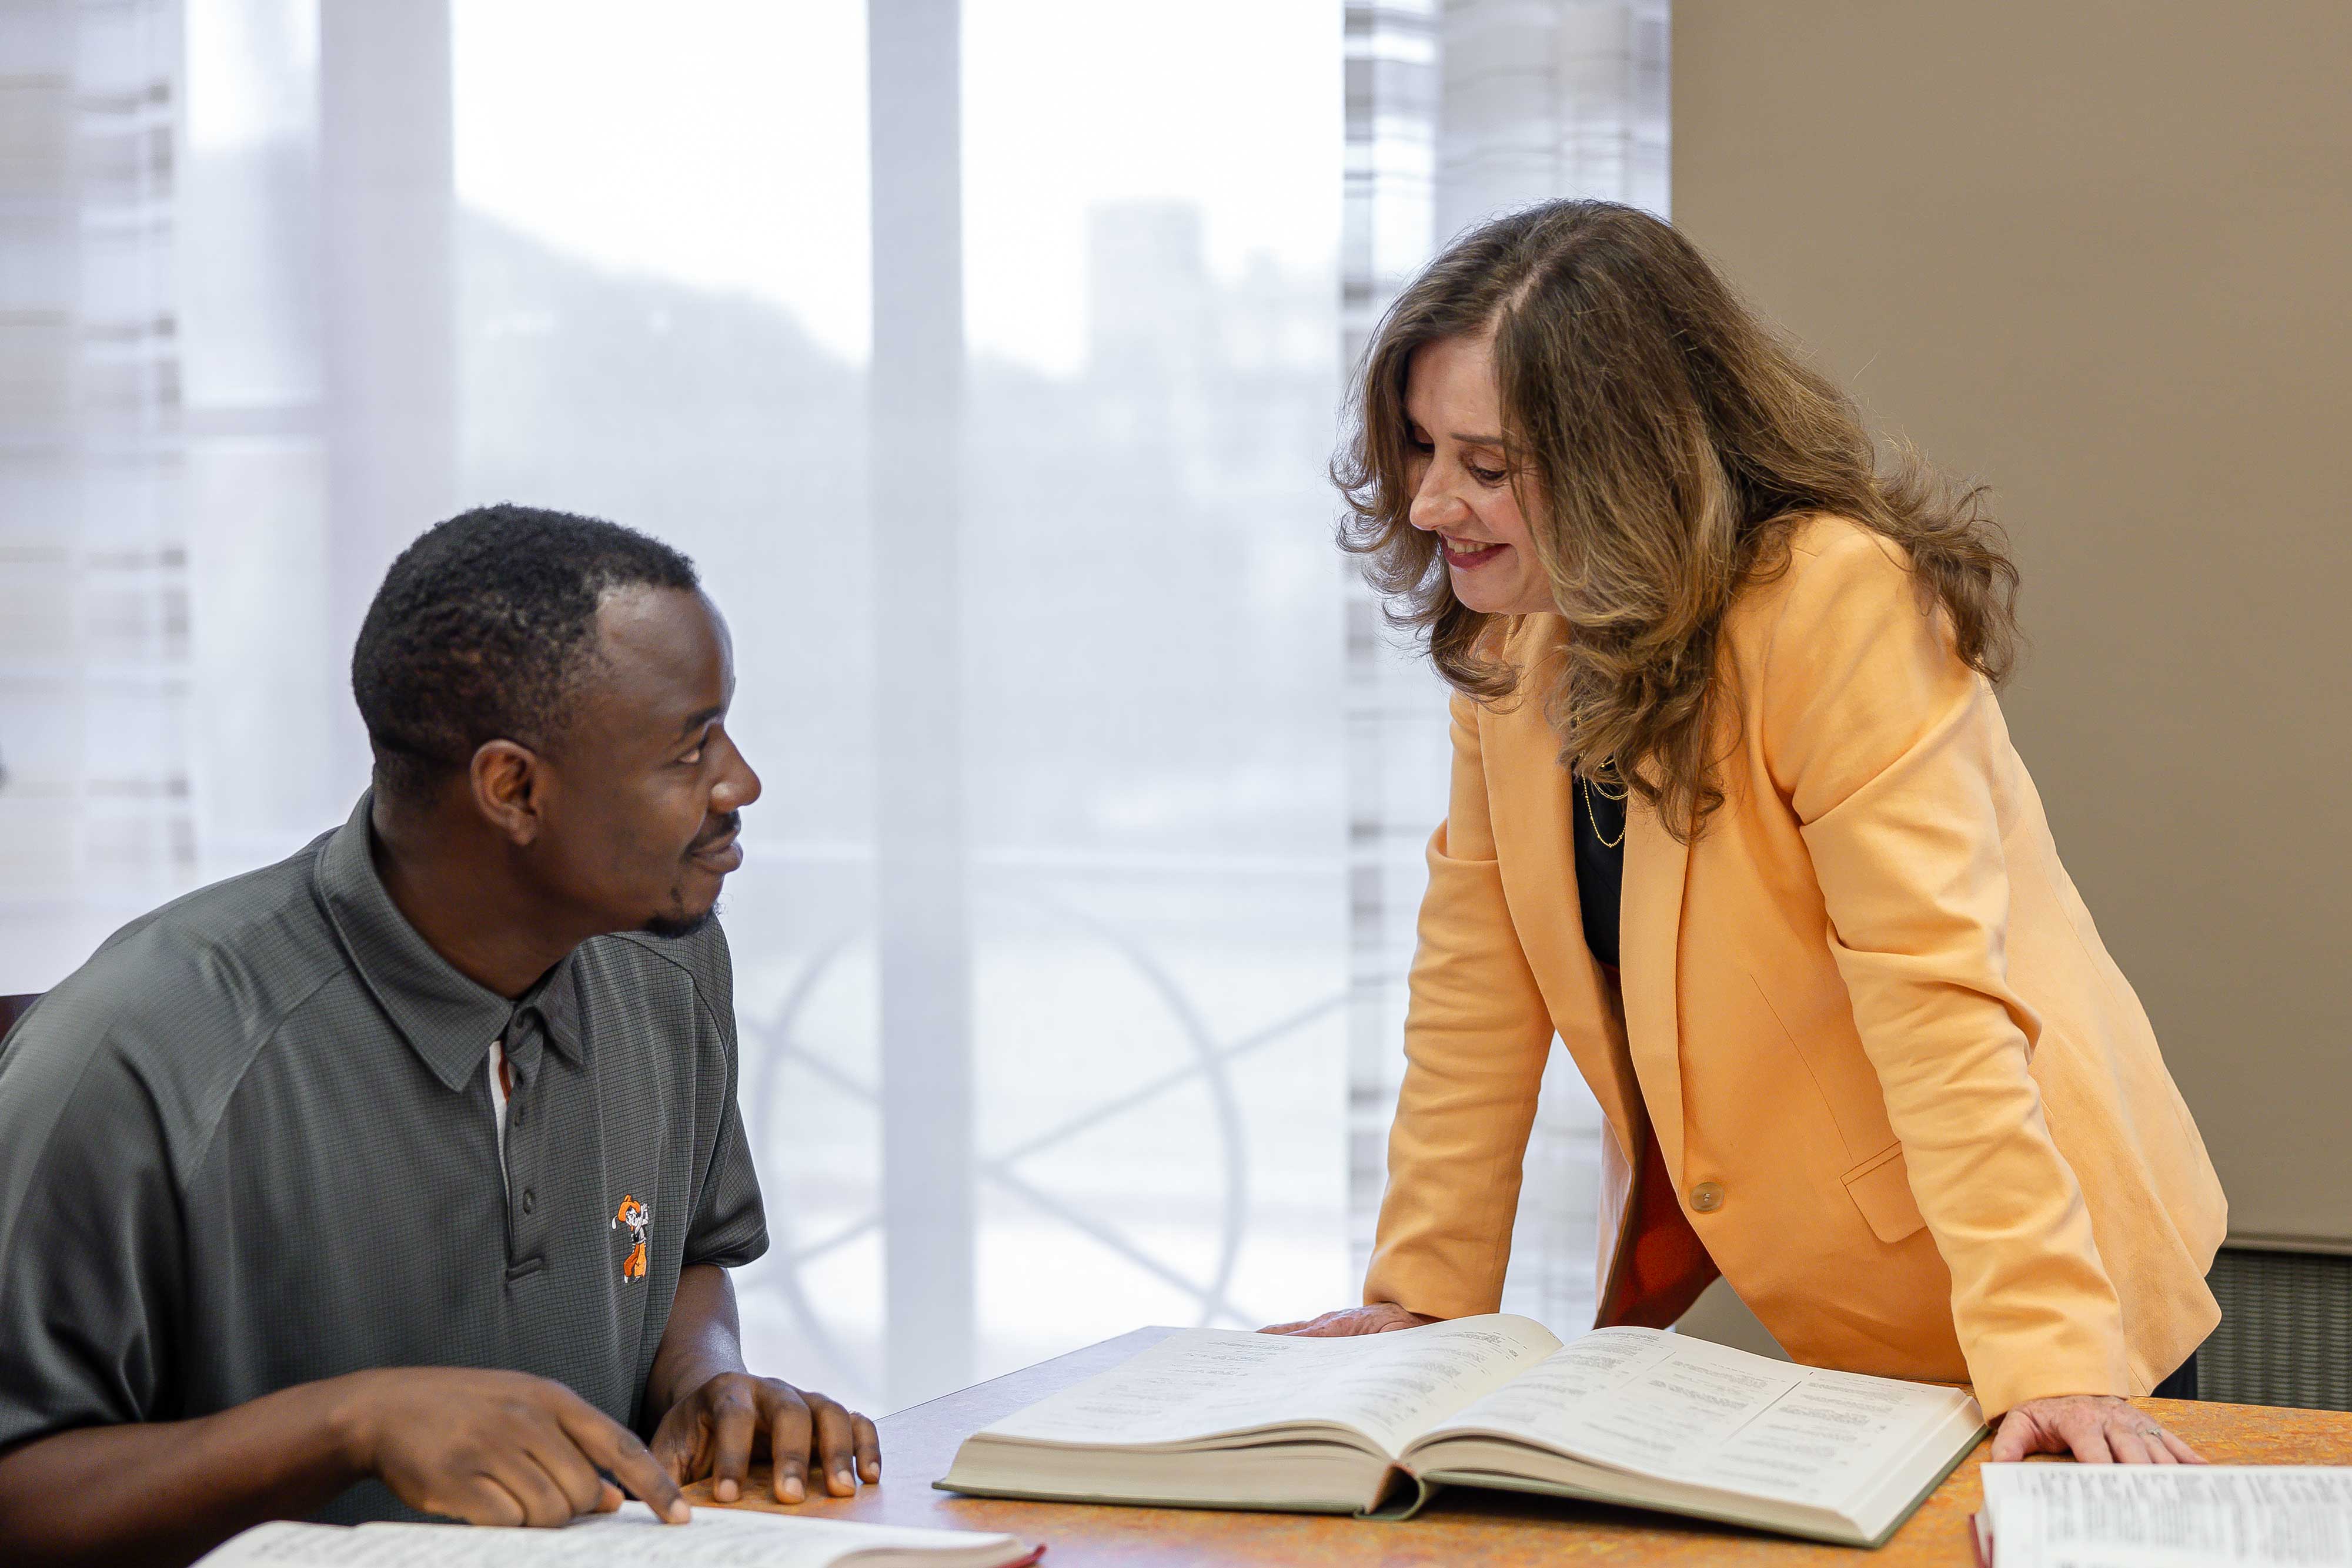
[[[1999,1568],[2347,1568],[2352,1469],[1985,1465]]]

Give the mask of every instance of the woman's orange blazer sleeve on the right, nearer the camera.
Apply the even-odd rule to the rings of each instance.
[[[1992,689],[1889,541],[1851,531],[1790,574],[1762,663],[1764,759],[1802,823],[1863,1051],[1952,1272],[1976,1396],[1997,1415],[2129,1394],[2114,1286],[2030,1072],[2039,1020],[2009,987],[2009,738]]]

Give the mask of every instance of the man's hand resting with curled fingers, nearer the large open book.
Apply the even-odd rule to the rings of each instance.
[[[710,1476],[710,1495],[720,1502],[743,1495],[760,1448],[774,1462],[776,1502],[809,1495],[811,1465],[835,1497],[856,1493],[861,1479],[882,1479],[882,1439],[870,1420],[776,1378],[706,1378],[670,1406],[654,1432],[654,1462],[680,1486]]]

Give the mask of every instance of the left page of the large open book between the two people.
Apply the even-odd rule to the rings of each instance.
[[[1009,1415],[985,1436],[1181,1443],[1249,1427],[1338,1422],[1395,1455],[1428,1425],[1559,1349],[1524,1316],[1465,1316],[1348,1340],[1188,1328]]]

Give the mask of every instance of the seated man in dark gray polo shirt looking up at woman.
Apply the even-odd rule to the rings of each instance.
[[[553,1526],[880,1479],[753,1378],[767,1251],[713,912],[760,780],[675,550],[485,508],[353,654],[376,780],[118,931],[0,1046],[0,1561],[275,1516]],[[644,1441],[640,1441],[644,1439]]]

